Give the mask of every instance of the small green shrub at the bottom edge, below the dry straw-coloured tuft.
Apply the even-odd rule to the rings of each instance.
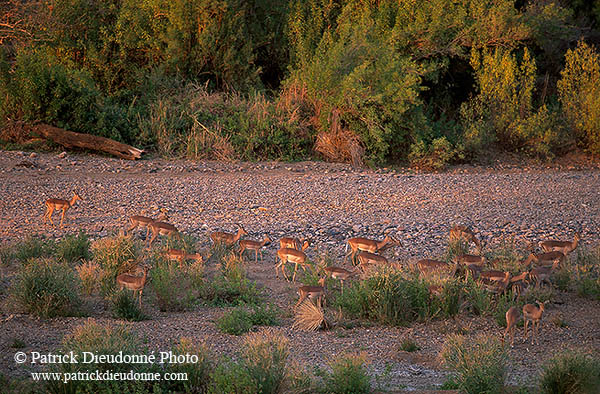
[[[362,355],[344,355],[331,363],[331,373],[324,373],[325,393],[370,393],[371,382]]]

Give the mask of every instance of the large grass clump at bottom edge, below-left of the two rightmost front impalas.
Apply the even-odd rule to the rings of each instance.
[[[475,339],[451,335],[440,354],[458,373],[456,382],[465,393],[502,393],[507,357],[500,341],[491,336]]]

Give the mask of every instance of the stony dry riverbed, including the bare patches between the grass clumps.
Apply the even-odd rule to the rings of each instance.
[[[344,255],[344,241],[353,236],[381,239],[389,233],[403,243],[388,256],[403,262],[444,252],[448,229],[470,225],[484,245],[513,240],[524,247],[533,240],[570,239],[580,232],[583,244],[596,245],[600,211],[600,171],[593,168],[459,167],[446,173],[410,170],[364,170],[326,163],[138,162],[74,154],[0,152],[0,242],[28,235],[62,237],[80,229],[99,238],[124,228],[127,217],[154,215],[165,208],[180,231],[209,245],[207,233],[235,231],[241,224],[259,239],[283,235],[309,237],[309,255]],[[42,223],[44,201],[68,199],[76,190],[83,198],[72,208],[64,228]],[[55,219],[58,218],[55,216]],[[274,278],[275,246],[265,261],[250,264],[250,277],[275,303],[289,309],[295,286]],[[395,256],[394,256],[395,255]],[[341,262],[341,261],[340,261]],[[156,348],[171,339],[209,339],[219,352],[233,353],[241,339],[217,331],[213,321],[223,309],[201,307],[186,313],[161,313],[150,308],[152,320],[128,323],[149,337]],[[509,381],[532,381],[540,362],[565,347],[600,352],[600,304],[560,294],[548,308],[540,346],[519,341],[511,355]],[[0,370],[19,374],[12,360],[15,338],[29,350],[51,350],[81,318],[48,321],[27,315],[0,316]],[[98,311],[101,321],[110,314]],[[553,324],[562,319],[566,326]],[[408,328],[336,329],[319,333],[293,331],[291,319],[278,328],[290,338],[295,359],[323,364],[344,351],[363,351],[374,374],[389,364],[388,378],[396,387],[428,389],[445,380],[436,356],[447,334],[499,332],[490,319],[460,317],[415,324]],[[414,338],[421,350],[398,349],[402,338]],[[27,351],[27,350],[25,350]]]

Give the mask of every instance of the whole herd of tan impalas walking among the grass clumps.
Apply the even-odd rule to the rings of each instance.
[[[65,214],[67,210],[75,205],[77,200],[83,200],[77,193],[73,193],[71,200],[62,200],[51,198],[46,201],[46,213],[44,214],[44,223],[47,219],[52,222],[52,213],[62,210],[60,226],[62,226]],[[131,235],[133,230],[136,228],[146,228],[146,239],[148,241],[148,248],[152,246],[152,242],[156,240],[159,235],[181,237],[181,234],[177,228],[168,223],[169,220],[166,212],[161,210],[156,219],[134,215],[129,217],[130,226],[124,231],[124,234]],[[216,231],[209,234],[209,237],[214,245],[222,244],[228,247],[233,247],[236,243],[239,243],[239,255],[242,258],[244,251],[254,251],[255,262],[258,262],[258,257],[262,259],[262,249],[270,245],[273,241],[268,235],[265,235],[262,241],[241,239],[242,236],[248,235],[246,230],[241,225],[238,225],[238,231],[235,234]],[[150,232],[152,236],[149,237]],[[550,283],[550,277],[552,273],[562,264],[567,256],[577,248],[581,237],[576,234],[573,241],[542,241],[539,243],[532,243],[528,246],[531,251],[529,256],[521,262],[521,266],[524,271],[511,277],[511,273],[508,271],[499,271],[493,269],[487,269],[488,262],[482,255],[482,245],[480,240],[477,238],[475,233],[466,226],[455,225],[450,229],[449,240],[450,242],[466,242],[466,245],[473,243],[477,249],[478,254],[462,254],[457,255],[452,259],[452,263],[445,261],[434,260],[434,259],[422,259],[419,260],[415,265],[414,269],[423,277],[454,277],[456,273],[462,270],[465,274],[465,280],[471,277],[473,280],[481,283],[482,287],[493,294],[503,294],[508,289],[512,289],[513,297],[522,296],[529,288],[531,284],[540,286],[544,283]],[[298,239],[293,237],[283,237],[279,240],[279,250],[276,254],[276,265],[275,275],[279,277],[279,270],[281,270],[284,278],[289,281],[288,276],[285,272],[285,266],[287,263],[294,264],[294,273],[292,275],[292,282],[296,280],[296,274],[298,266],[306,271],[306,266],[310,265],[308,262],[305,251],[310,247],[311,241],[309,239]],[[365,274],[372,267],[383,267],[394,264],[388,263],[381,253],[386,249],[394,246],[402,247],[402,243],[394,239],[390,235],[382,241],[373,239],[357,237],[351,238],[346,243],[346,255],[344,263],[347,262],[350,257],[353,265],[352,270],[347,270],[342,267],[336,266],[324,266],[324,262],[321,261],[319,264],[320,272],[324,276],[318,281],[318,286],[301,286],[298,288],[299,300],[294,306],[296,308],[307,298],[309,300],[315,300],[321,305],[321,302],[325,299],[326,288],[325,278],[331,277],[332,279],[339,280],[341,282],[341,291],[344,291],[344,281],[349,280],[354,276],[360,276]],[[350,247],[350,251],[348,251]],[[542,253],[535,254],[536,247],[542,249]],[[169,249],[164,252],[164,256],[169,260],[183,262],[185,260],[196,260],[199,262],[203,261],[203,257],[199,253],[188,254],[182,250]],[[358,260],[358,263],[356,263]],[[397,266],[397,264],[396,264]],[[139,303],[141,307],[142,291],[146,284],[148,276],[149,266],[144,267],[144,273],[142,276],[134,276],[130,274],[121,274],[117,276],[116,281],[119,287],[127,288],[139,293]],[[442,293],[442,286],[431,285],[429,286],[429,292],[431,296],[440,296]],[[513,298],[514,301],[514,298]],[[522,315],[525,320],[525,333],[524,337],[527,339],[527,329],[531,322],[531,341],[532,344],[537,342],[537,335],[539,332],[539,325],[544,313],[545,303],[539,301],[534,304],[526,304],[523,306]],[[514,332],[516,325],[521,317],[517,307],[513,306],[506,312],[506,330],[504,332],[503,340],[508,335],[510,337],[511,346],[514,345]]]

